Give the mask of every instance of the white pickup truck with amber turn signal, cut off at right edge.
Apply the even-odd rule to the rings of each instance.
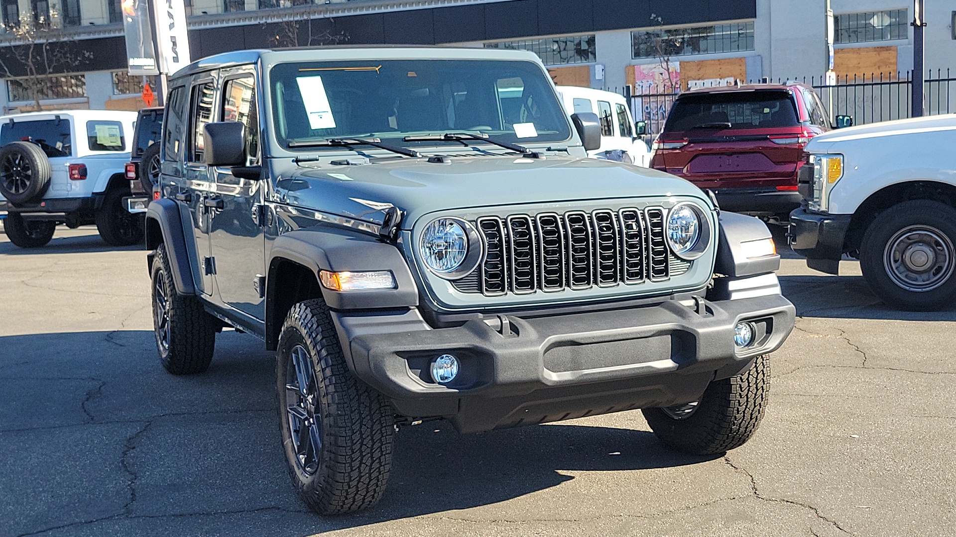
[[[811,269],[846,253],[887,306],[956,301],[956,115],[831,131],[807,144],[790,240]]]

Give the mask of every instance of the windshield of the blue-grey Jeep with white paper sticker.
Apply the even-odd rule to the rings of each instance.
[[[275,135],[293,150],[303,149],[293,141],[342,138],[434,145],[402,138],[449,132],[519,144],[571,138],[550,81],[528,61],[283,63],[270,77]]]

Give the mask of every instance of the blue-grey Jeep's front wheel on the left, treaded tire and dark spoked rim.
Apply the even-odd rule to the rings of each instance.
[[[302,501],[319,514],[378,502],[391,467],[394,412],[352,376],[322,300],[300,302],[286,316],[276,380],[282,444]]]

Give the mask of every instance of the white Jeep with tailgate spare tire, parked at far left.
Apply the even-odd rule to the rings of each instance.
[[[96,224],[107,244],[142,239],[123,167],[135,112],[56,110],[0,117],[0,218],[11,243],[42,247],[57,224]]]

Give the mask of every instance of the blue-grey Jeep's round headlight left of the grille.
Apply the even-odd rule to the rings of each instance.
[[[424,267],[445,280],[470,274],[481,262],[483,250],[481,236],[474,226],[456,217],[433,219],[424,226],[418,240]]]

